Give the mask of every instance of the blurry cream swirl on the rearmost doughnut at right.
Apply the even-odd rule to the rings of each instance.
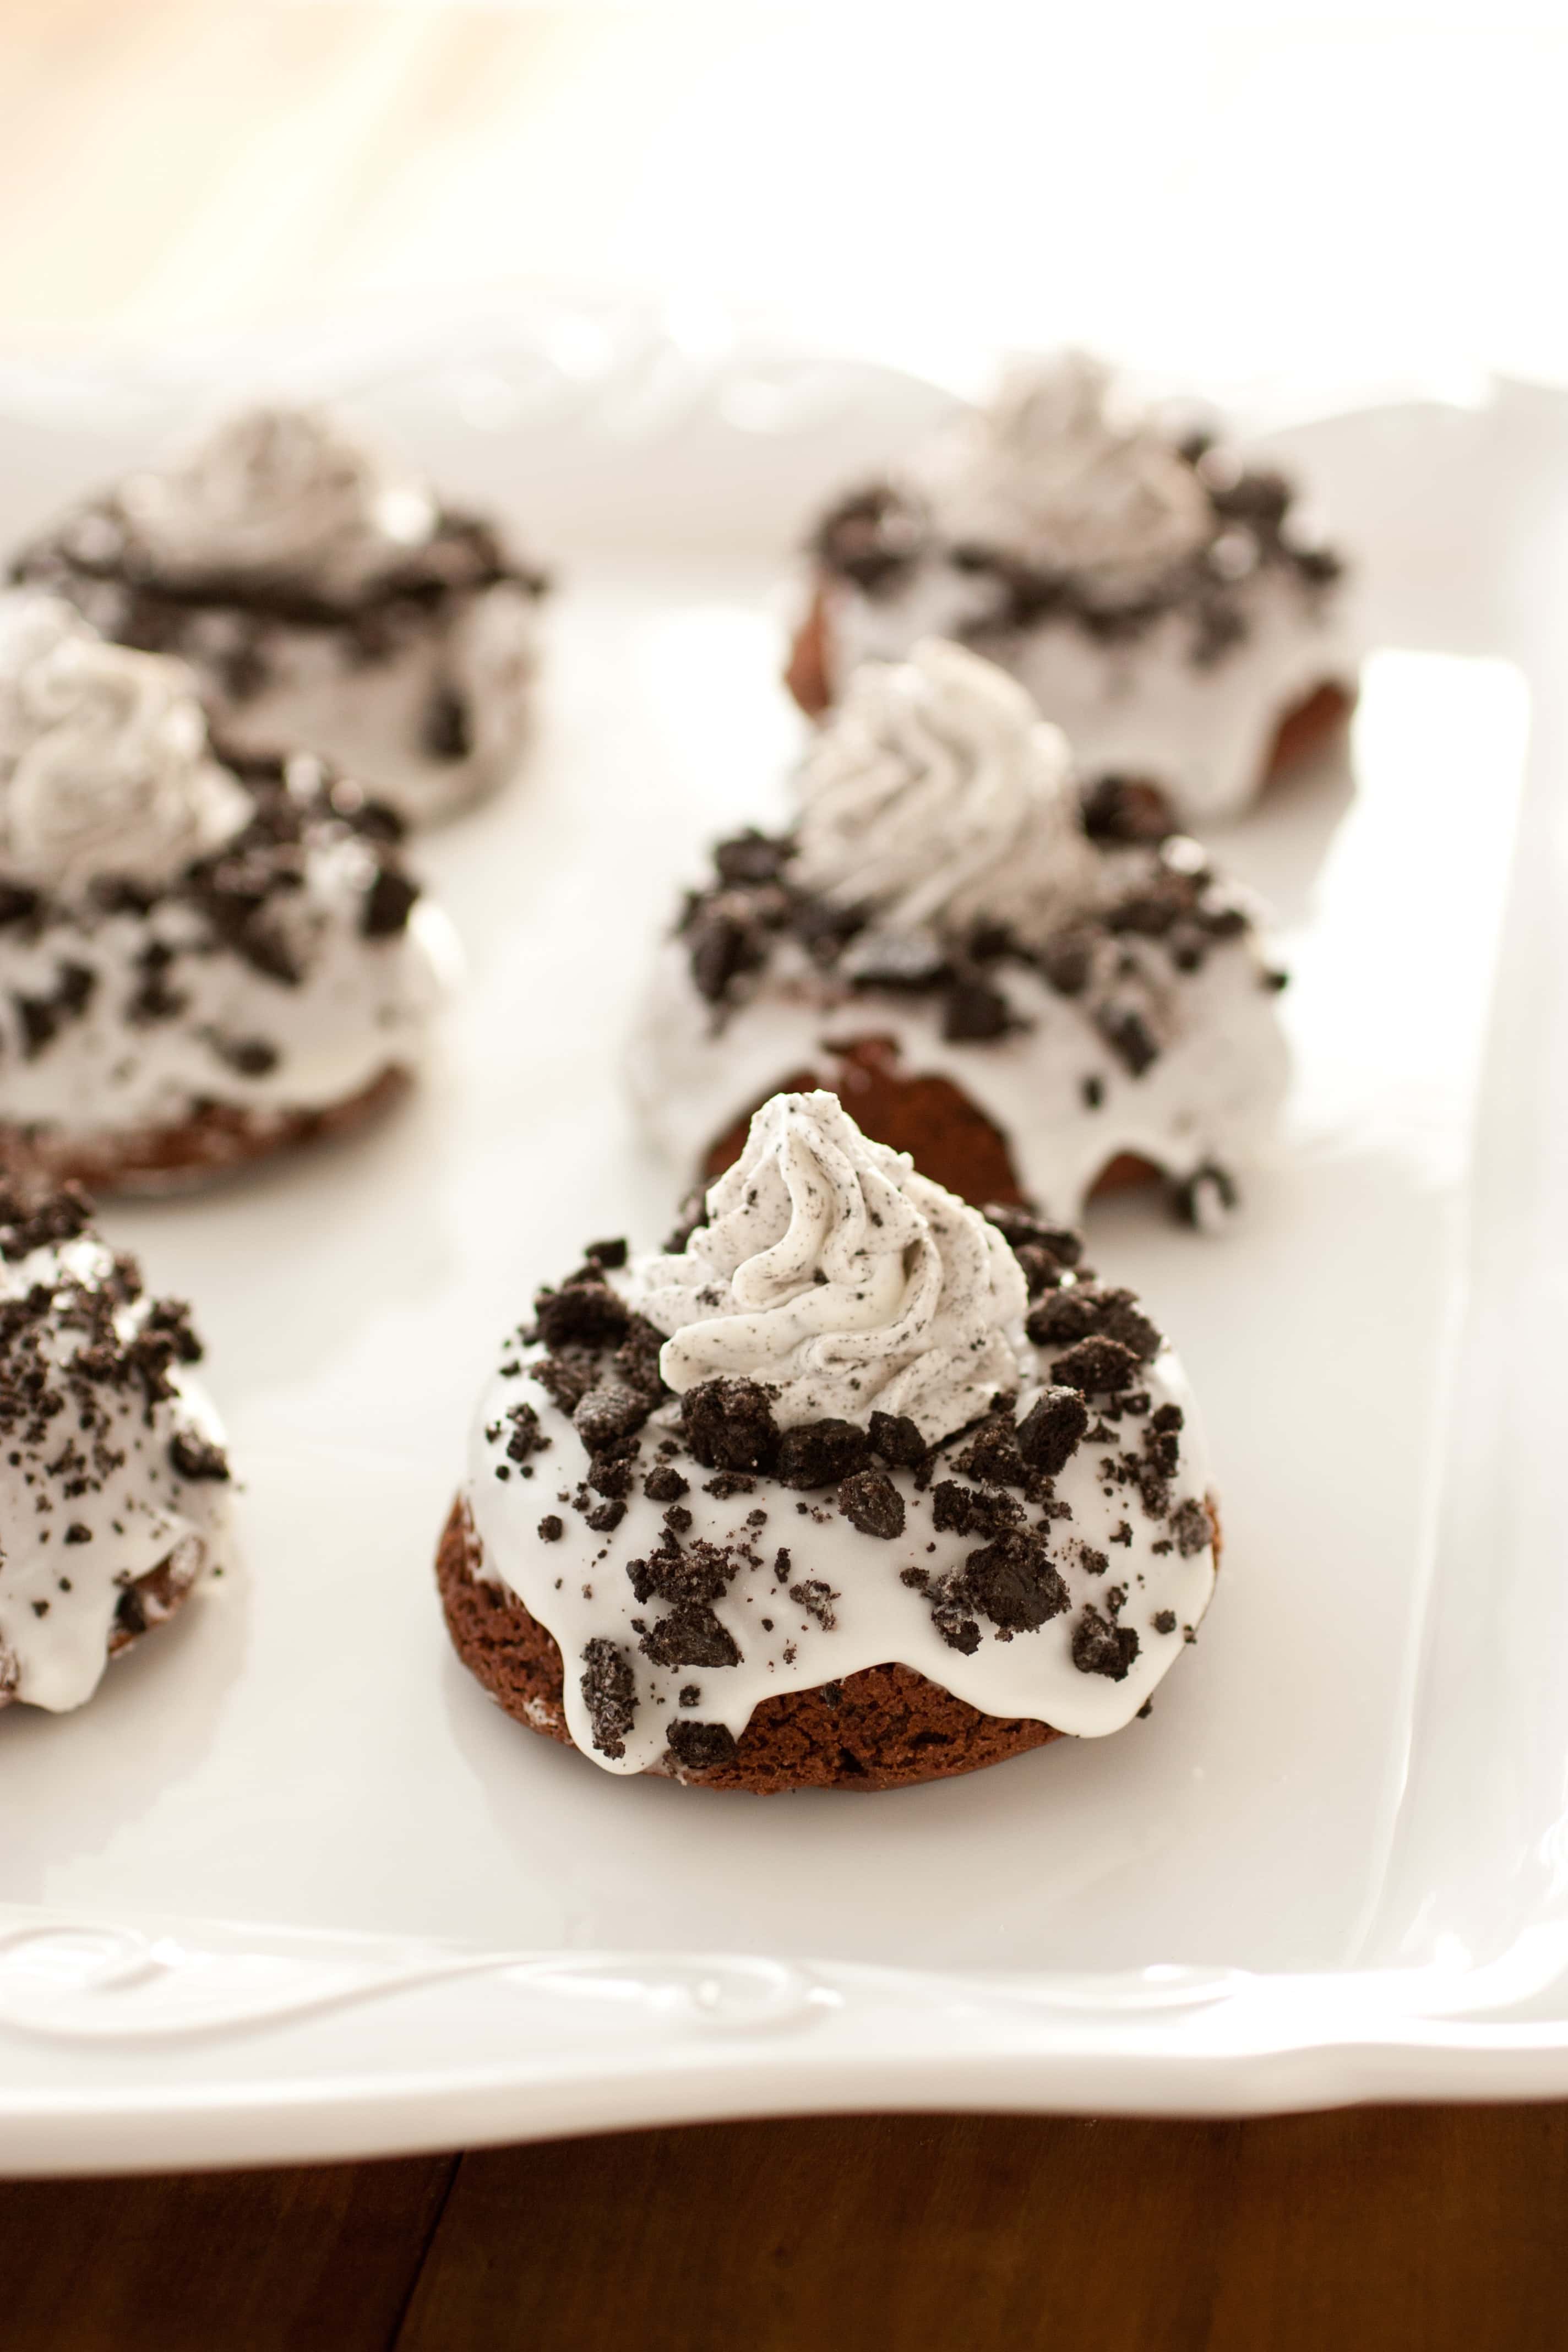
[[[1213,536],[1192,466],[1147,416],[1117,414],[1110,369],[1084,353],[1013,367],[929,463],[945,539],[1072,572],[1107,602],[1135,597]]]

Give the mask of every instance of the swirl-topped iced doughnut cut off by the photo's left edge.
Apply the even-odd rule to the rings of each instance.
[[[209,741],[193,673],[0,595],[0,1162],[209,1183],[367,1124],[454,967],[400,818]]]

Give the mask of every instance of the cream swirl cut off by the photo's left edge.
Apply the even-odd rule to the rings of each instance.
[[[103,644],[52,597],[0,600],[0,856],[71,894],[160,887],[247,816],[181,661]]]

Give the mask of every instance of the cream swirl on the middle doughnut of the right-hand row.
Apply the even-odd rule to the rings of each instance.
[[[971,922],[1037,936],[1088,903],[1098,861],[1065,736],[961,644],[865,661],[799,774],[792,880],[879,927]]]

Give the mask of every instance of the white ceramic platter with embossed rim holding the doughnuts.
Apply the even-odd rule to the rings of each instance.
[[[0,379],[5,532],[179,409],[66,390]],[[698,842],[776,807],[783,550],[936,400],[604,336],[367,400],[559,562],[541,741],[425,849],[473,971],[423,1101],[103,1218],[197,1305],[242,1559],[85,1712],[0,1717],[0,2166],[1568,2093],[1556,395],[1288,435],[1375,647],[1354,779],[1225,840],[1295,971],[1291,1136],[1222,1242],[1093,1218],[1225,1494],[1152,1719],[752,1802],[592,1771],[447,1651],[430,1557],[496,1336],[585,1235],[668,1225],[621,1028]]]

